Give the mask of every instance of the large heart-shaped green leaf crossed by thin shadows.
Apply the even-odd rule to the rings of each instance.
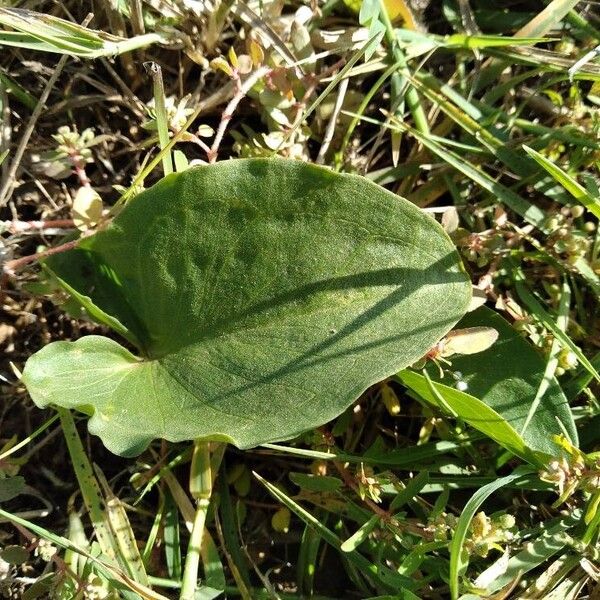
[[[49,266],[140,356],[99,336],[55,342],[23,380],[38,406],[90,414],[121,454],[318,426],[422,356],[470,297],[431,217],[364,178],[284,160],[166,177]]]

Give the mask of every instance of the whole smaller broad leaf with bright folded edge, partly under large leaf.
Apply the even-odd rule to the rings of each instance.
[[[442,410],[450,407],[472,427],[532,464],[540,463],[539,453],[556,456],[553,434],[567,432],[577,445],[569,403],[554,377],[545,380],[545,393],[538,398],[546,371],[538,351],[505,319],[486,307],[465,315],[457,328],[481,326],[494,328],[498,341],[484,352],[452,356],[443,378],[437,367],[430,367],[430,377],[438,382],[434,390],[437,394],[424,377],[411,371],[399,374],[402,383]],[[450,387],[448,370],[460,373],[466,393]],[[534,400],[539,404],[523,431]]]

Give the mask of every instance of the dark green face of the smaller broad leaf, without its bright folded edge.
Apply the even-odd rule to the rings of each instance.
[[[478,326],[493,327],[499,333],[498,341],[484,352],[452,356],[450,368],[462,374],[467,393],[493,408],[513,429],[522,431],[531,403],[544,381],[546,361],[508,321],[484,306],[467,313],[457,328]],[[440,380],[437,369],[431,369],[430,375],[448,384],[448,376],[445,381]],[[550,377],[523,440],[530,449],[554,456],[558,449],[552,436],[563,431],[577,445],[569,403],[556,379]]]

